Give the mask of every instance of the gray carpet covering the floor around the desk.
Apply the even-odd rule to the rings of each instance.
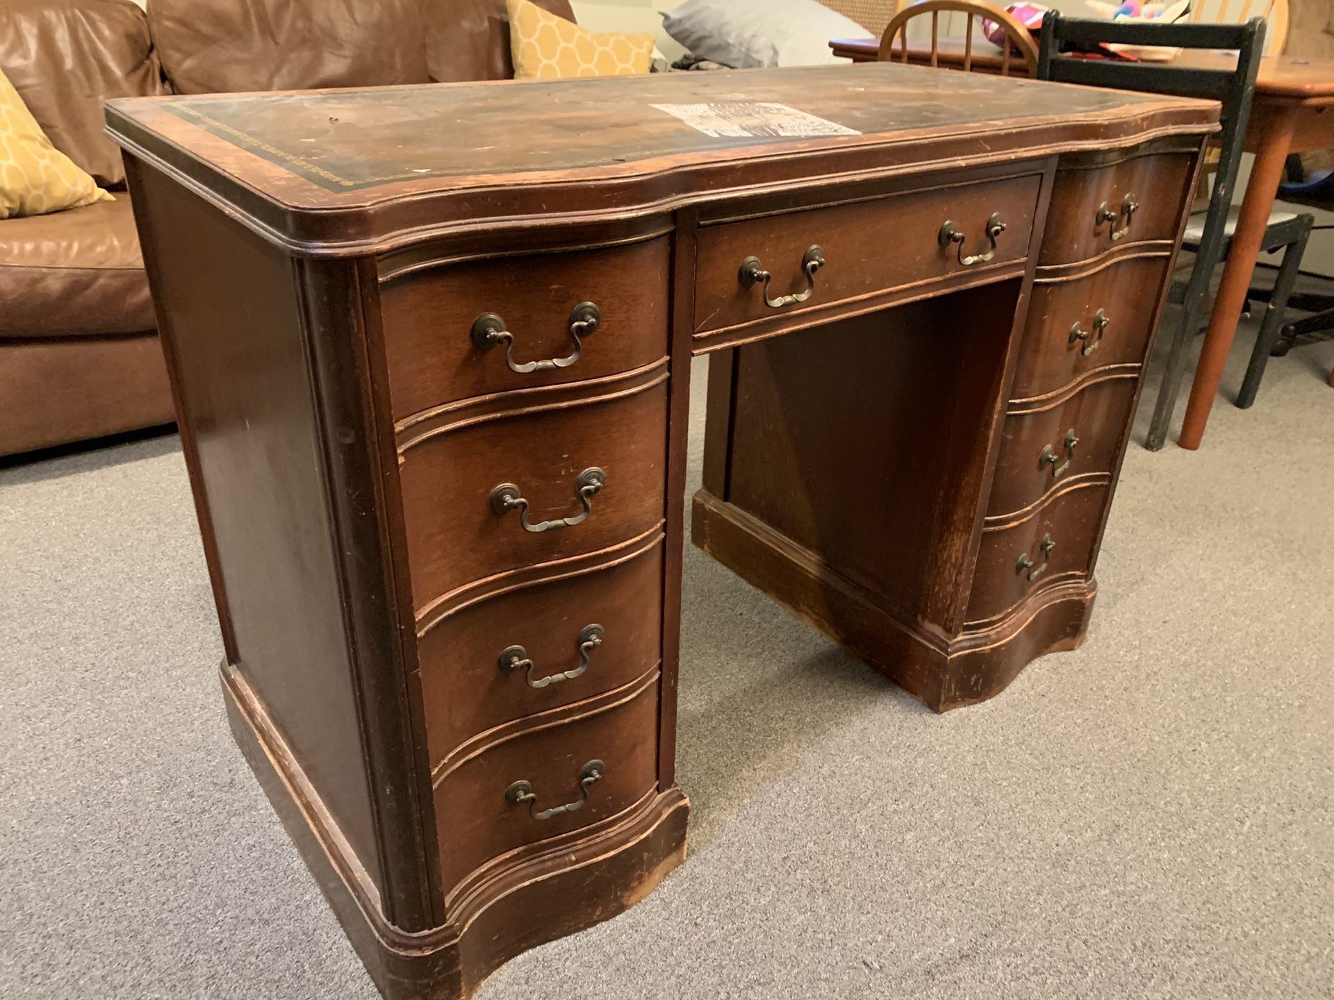
[[[691,857],[479,997],[1334,996],[1330,365],[1134,447],[1087,644],[947,716],[687,548]],[[0,469],[0,995],[376,996],[219,656],[175,437]]]

